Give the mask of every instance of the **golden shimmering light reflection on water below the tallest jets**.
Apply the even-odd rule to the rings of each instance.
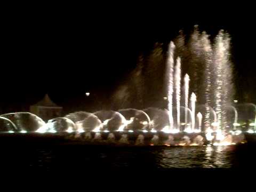
[[[160,167],[231,167],[232,146],[166,148],[158,154]]]

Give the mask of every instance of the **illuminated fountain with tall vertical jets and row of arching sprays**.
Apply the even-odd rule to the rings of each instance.
[[[184,55],[189,56],[189,54],[179,50],[179,46],[175,46],[173,42],[169,44],[165,66],[167,97],[166,93],[164,95],[167,100],[167,110],[164,107],[162,109],[149,107],[143,110],[127,108],[117,111],[100,110],[94,113],[77,111],[64,117],[50,119],[47,123],[29,113],[3,114],[0,119],[3,119],[6,126],[12,125],[12,129],[9,130],[11,132],[65,133],[75,135],[73,139],[83,138],[92,143],[107,141],[107,143],[125,145],[150,143],[150,145],[187,146],[203,145],[209,141],[215,145],[227,145],[232,142],[233,137],[228,135],[226,128],[230,126],[227,121],[228,108],[233,109],[235,113],[232,122],[234,129],[236,130],[238,126],[238,112],[236,107],[230,105],[231,96],[229,96],[229,92],[232,92],[231,65],[228,58],[229,37],[220,31],[214,44],[211,45],[209,36],[205,32],[201,34],[196,31],[193,34],[193,41],[188,42],[190,44],[186,50],[191,49],[188,51],[189,54],[192,55],[191,57],[196,57],[191,60],[185,59]],[[193,64],[191,66],[197,68],[183,70],[182,67],[190,65],[190,62]],[[138,67],[139,70],[135,70],[137,71],[135,77],[139,76],[139,82],[142,80],[144,82],[142,63]],[[181,72],[184,72],[184,77]],[[199,74],[203,74],[202,77]],[[141,103],[142,92],[139,87],[135,90],[137,90],[136,94],[140,95]],[[89,97],[89,94],[86,95]],[[197,103],[203,103],[203,109]],[[254,130],[250,131],[256,131],[256,115],[254,115],[253,127]]]

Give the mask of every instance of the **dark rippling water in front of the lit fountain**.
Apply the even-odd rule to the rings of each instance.
[[[255,145],[190,147],[107,147],[85,145],[3,145],[5,169],[254,167]]]

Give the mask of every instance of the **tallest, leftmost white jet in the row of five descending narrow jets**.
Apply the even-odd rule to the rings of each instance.
[[[173,42],[169,45],[168,50],[168,58],[167,58],[167,70],[166,70],[166,78],[167,78],[167,89],[168,89],[168,110],[169,110],[169,131],[173,129],[173,116],[172,116],[172,94],[173,94],[173,65],[174,65],[174,53],[175,45]]]

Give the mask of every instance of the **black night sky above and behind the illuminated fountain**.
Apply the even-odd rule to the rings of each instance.
[[[86,10],[88,10],[87,8]],[[119,81],[135,68],[138,55],[155,42],[170,42],[180,29],[194,25],[215,36],[225,29],[231,36],[236,99],[256,103],[255,27],[253,17],[241,12],[211,19],[180,14],[135,14],[87,11],[6,14],[2,30],[0,110],[27,110],[49,93],[58,105],[81,105],[85,92],[99,100],[108,97]],[[183,10],[184,11],[184,10]],[[161,12],[161,10],[160,10]],[[189,18],[189,19],[188,19]],[[86,100],[87,99],[87,100]]]

